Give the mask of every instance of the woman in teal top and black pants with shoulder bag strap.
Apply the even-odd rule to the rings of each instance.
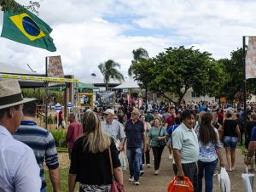
[[[159,175],[159,167],[162,152],[165,148],[165,139],[168,133],[165,127],[161,126],[159,116],[154,117],[153,126],[148,132],[148,148],[152,148],[154,155],[154,175]]]

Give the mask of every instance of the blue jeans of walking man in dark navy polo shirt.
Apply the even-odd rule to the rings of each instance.
[[[139,174],[140,174],[140,162],[143,155],[143,149],[141,147],[127,148],[126,155],[129,161],[130,176],[131,178],[134,177],[135,181],[138,181]]]

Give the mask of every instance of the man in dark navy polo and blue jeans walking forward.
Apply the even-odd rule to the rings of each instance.
[[[127,158],[129,161],[130,178],[129,181],[139,185],[140,161],[143,150],[146,150],[146,136],[143,121],[139,120],[139,110],[131,112],[131,120],[125,124],[125,134],[127,138]],[[143,144],[143,148],[142,148]]]

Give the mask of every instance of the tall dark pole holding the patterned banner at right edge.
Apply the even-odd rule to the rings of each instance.
[[[246,37],[242,37],[242,65],[243,65],[243,121],[247,123],[247,78],[246,78]]]

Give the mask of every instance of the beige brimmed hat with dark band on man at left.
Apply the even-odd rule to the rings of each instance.
[[[17,80],[9,79],[0,81],[0,110],[32,100],[35,99],[23,98],[20,84]]]

